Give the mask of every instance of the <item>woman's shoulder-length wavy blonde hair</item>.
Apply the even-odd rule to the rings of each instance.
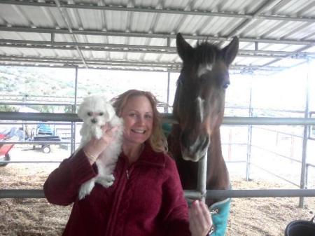
[[[167,139],[162,132],[161,116],[158,112],[158,109],[156,108],[158,100],[151,92],[142,90],[128,90],[127,92],[124,92],[123,94],[111,99],[113,107],[116,109],[117,116],[121,116],[121,112],[123,111],[123,108],[127,104],[130,97],[138,96],[144,96],[148,98],[153,109],[153,129],[151,137],[148,139],[149,144],[154,151],[167,153]]]

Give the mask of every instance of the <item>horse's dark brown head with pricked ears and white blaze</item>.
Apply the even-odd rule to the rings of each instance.
[[[223,49],[207,42],[193,48],[177,34],[176,46],[183,60],[174,99],[174,118],[181,128],[181,152],[185,160],[198,161],[207,152],[210,136],[223,120],[228,67],[235,59],[239,40]]]

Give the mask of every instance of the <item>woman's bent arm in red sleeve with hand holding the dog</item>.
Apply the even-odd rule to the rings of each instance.
[[[81,184],[97,175],[93,169],[94,162],[114,140],[118,127],[110,127],[106,124],[102,130],[104,135],[101,139],[92,138],[80,151],[64,160],[48,176],[43,186],[48,202],[60,205],[71,204],[76,200]]]

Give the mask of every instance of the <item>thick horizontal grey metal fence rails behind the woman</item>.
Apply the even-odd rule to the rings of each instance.
[[[72,113],[15,113],[0,112],[0,120],[37,120],[80,122],[81,120]],[[163,121],[176,123],[171,114],[164,113]],[[247,118],[225,117],[223,125],[315,125],[315,118]],[[48,161],[50,162],[50,161]],[[187,197],[315,197],[314,189],[288,189],[288,190],[207,190],[185,191]],[[43,190],[2,189],[0,198],[38,198],[44,197]]]

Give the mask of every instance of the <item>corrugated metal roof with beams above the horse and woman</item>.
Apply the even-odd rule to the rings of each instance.
[[[315,57],[315,1],[3,0],[0,64],[179,71],[177,32],[239,36],[231,70],[269,74]]]

